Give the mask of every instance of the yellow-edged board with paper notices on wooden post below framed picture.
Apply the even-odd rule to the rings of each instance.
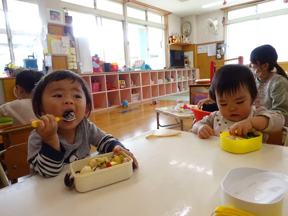
[[[68,56],[70,51],[69,37],[59,35],[46,35],[46,40],[42,41],[43,54]]]

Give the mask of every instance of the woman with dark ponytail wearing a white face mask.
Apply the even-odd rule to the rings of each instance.
[[[258,91],[253,105],[264,106],[270,111],[281,111],[287,127],[288,77],[283,68],[277,64],[277,59],[275,48],[268,44],[259,46],[251,52],[249,67],[255,77]]]

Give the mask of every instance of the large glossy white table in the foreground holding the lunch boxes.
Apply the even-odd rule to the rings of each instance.
[[[86,193],[64,185],[68,166],[57,177],[35,176],[0,190],[1,215],[194,215],[208,216],[221,205],[221,182],[235,167],[257,167],[288,175],[288,148],[263,144],[260,150],[231,154],[220,148],[219,137],[199,139],[182,132],[174,137],[124,143],[139,168],[130,179]],[[283,216],[288,215],[288,193]],[[272,216],[272,215],[271,215]]]

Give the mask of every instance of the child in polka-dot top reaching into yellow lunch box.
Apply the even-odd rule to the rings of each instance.
[[[252,106],[257,97],[254,77],[247,66],[225,65],[215,73],[211,84],[212,100],[219,111],[205,116],[194,124],[192,132],[203,139],[218,136],[221,132],[247,135],[248,130],[278,132],[283,128],[284,117],[279,111]]]

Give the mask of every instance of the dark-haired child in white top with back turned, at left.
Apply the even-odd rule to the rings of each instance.
[[[13,126],[29,124],[31,119],[37,119],[32,109],[31,91],[43,76],[40,71],[33,70],[18,73],[15,79],[17,100],[1,105],[0,117],[13,118]]]

